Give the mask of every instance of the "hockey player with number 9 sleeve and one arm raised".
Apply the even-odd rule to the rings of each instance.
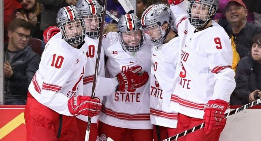
[[[170,6],[181,41],[171,109],[178,109],[177,132],[205,122],[183,140],[218,141],[236,86],[230,38],[212,20],[219,0],[191,0],[188,8],[182,1]]]

